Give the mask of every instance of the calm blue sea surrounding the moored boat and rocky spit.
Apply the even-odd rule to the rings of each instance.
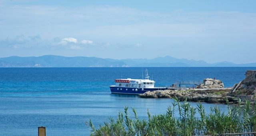
[[[246,70],[256,68],[148,68],[156,86],[216,77],[227,87],[242,80]],[[147,109],[163,114],[173,101],[110,94],[116,78],[142,78],[142,68],[0,68],[0,135],[36,136],[37,127],[46,126],[47,136],[86,136],[89,119],[98,126],[124,106],[146,118]],[[213,105],[204,103],[206,112]]]

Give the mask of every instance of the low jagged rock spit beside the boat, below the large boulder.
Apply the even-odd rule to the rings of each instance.
[[[230,104],[236,102],[235,97],[228,96],[230,89],[223,90],[164,90],[164,91],[148,91],[139,94],[141,98],[175,98],[180,101],[187,98],[192,102],[209,102],[209,103],[226,103],[225,98]]]

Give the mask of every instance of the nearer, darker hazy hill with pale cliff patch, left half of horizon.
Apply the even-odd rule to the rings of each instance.
[[[0,58],[0,67],[122,67],[124,62],[110,62],[96,57],[64,57],[46,55],[40,57],[11,56]]]

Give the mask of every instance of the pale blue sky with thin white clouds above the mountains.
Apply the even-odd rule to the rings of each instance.
[[[0,0],[0,58],[256,62],[256,0]]]

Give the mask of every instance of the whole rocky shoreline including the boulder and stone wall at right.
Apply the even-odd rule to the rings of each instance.
[[[200,89],[199,89],[200,88]],[[232,88],[224,88],[220,80],[212,78],[204,79],[204,84],[197,86],[193,90],[164,90],[139,94],[140,98],[178,98],[183,101],[187,99],[191,102],[208,102],[226,104],[237,104],[238,98],[250,100],[251,104],[256,103],[256,70],[247,70],[245,79],[235,84]],[[241,102],[245,104],[245,102]]]

